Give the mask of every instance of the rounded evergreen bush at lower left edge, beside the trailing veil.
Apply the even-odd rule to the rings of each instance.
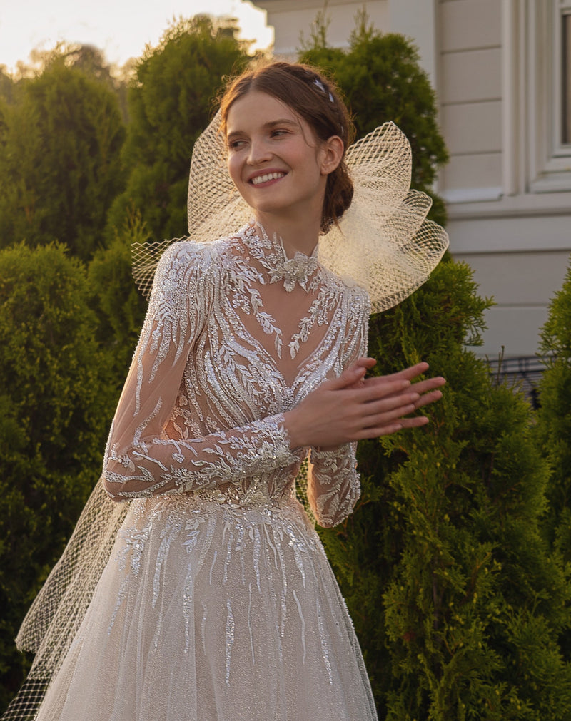
[[[61,244],[0,251],[0,703],[22,681],[13,639],[97,480],[110,423],[85,284]]]

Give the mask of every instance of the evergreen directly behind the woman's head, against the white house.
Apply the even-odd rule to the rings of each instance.
[[[448,160],[437,124],[436,96],[419,55],[396,33],[370,27],[365,12],[357,14],[349,50],[327,44],[327,18],[318,14],[300,61],[323,68],[334,77],[352,110],[357,138],[388,120],[409,138],[412,149],[412,187],[433,199],[430,218],[445,222],[445,206],[434,193],[439,167]]]

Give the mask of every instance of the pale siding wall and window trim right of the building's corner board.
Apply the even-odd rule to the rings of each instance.
[[[536,353],[571,251],[571,182],[565,169],[549,177],[545,152],[554,68],[541,61],[553,11],[553,0],[437,3],[437,92],[450,150],[439,190],[454,257],[497,304],[481,349],[490,357],[502,348],[508,357]]]

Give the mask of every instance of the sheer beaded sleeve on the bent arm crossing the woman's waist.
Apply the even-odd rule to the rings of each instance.
[[[213,266],[208,247],[178,242],[157,267],[105,450],[103,483],[114,500],[208,489],[299,460],[281,414],[203,438],[170,433],[188,355],[212,308]]]

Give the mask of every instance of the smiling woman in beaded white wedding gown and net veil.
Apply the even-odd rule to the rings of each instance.
[[[443,379],[411,385],[425,363],[365,378],[358,283],[375,310],[394,304],[445,236],[419,230],[427,203],[395,176],[359,241],[386,242],[380,260],[331,241],[352,201],[350,128],[323,76],[271,63],[232,81],[197,144],[193,241],[162,255],[102,480],[19,635],[38,650],[30,684],[53,675],[38,719],[376,718],[295,478],[309,451],[308,500],[332,526],[359,496],[356,442],[427,423],[407,417],[441,395]],[[240,199],[225,195],[221,138]],[[379,167],[394,154],[383,133],[373,140]]]

